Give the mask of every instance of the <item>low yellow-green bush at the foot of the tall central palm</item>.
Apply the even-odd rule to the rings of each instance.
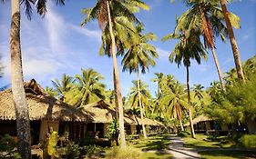
[[[141,152],[138,150],[126,147],[125,149],[121,149],[119,147],[113,147],[112,150],[110,150],[107,153],[106,158],[107,159],[138,159],[140,158]]]

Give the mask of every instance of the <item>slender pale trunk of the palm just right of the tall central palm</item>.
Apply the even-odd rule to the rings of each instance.
[[[145,124],[144,124],[144,117],[143,117],[143,115],[144,115],[144,107],[141,104],[139,72],[138,72],[138,70],[137,70],[137,85],[138,85],[138,105],[139,105],[139,110],[140,110],[140,118],[141,118],[142,131],[143,131],[144,138],[147,138],[147,133],[146,133]]]

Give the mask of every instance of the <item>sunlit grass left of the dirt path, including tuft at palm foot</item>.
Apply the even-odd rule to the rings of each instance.
[[[171,159],[172,155],[166,151],[169,144],[168,135],[150,136],[131,140],[125,150],[111,148],[106,153],[107,158],[113,159]]]

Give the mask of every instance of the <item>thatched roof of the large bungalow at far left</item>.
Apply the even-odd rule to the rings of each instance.
[[[47,95],[36,80],[27,82],[25,89],[30,120],[87,121],[87,114]],[[0,120],[15,120],[15,105],[11,89],[0,92],[0,104]]]

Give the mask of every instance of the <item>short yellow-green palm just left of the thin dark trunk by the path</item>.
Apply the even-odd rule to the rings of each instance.
[[[181,131],[184,131],[182,124],[182,112],[188,110],[187,96],[184,87],[178,81],[174,82],[171,87],[165,87],[163,97],[160,99],[161,104],[167,106],[166,113],[169,116],[179,120]]]

